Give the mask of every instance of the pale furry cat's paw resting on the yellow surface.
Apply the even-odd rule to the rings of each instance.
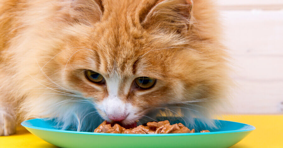
[[[0,110],[0,136],[12,135],[16,132],[16,119],[13,114]]]

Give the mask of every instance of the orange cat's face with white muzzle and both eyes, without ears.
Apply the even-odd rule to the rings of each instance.
[[[95,29],[91,34],[95,34],[92,38],[100,37],[97,43],[72,51],[76,53],[65,69],[66,83],[84,97],[93,98],[105,120],[122,120],[124,124],[152,109],[184,101],[185,89],[195,87],[193,74],[186,75],[194,69],[195,58],[187,58],[197,51],[180,45],[176,48],[170,41],[174,38],[135,38],[123,31],[114,35],[114,29],[108,28],[108,33]]]

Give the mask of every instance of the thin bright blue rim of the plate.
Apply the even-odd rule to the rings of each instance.
[[[256,128],[253,125],[248,125],[241,122],[227,121],[227,120],[219,120],[225,122],[234,122],[243,125],[248,125],[250,128],[245,130],[226,130],[226,131],[215,131],[215,132],[207,132],[207,133],[176,133],[176,134],[115,134],[115,133],[94,133],[94,132],[82,132],[82,131],[71,131],[71,130],[57,130],[57,129],[48,129],[42,127],[36,127],[31,125],[26,125],[26,122],[31,122],[31,120],[43,120],[44,118],[36,118],[25,120],[21,122],[21,125],[25,128],[31,128],[35,130],[45,130],[52,132],[60,132],[60,133],[73,133],[73,134],[85,134],[85,135],[105,135],[105,136],[190,136],[190,135],[211,135],[211,134],[225,134],[225,133],[238,133],[238,132],[248,132],[255,130]],[[46,121],[46,120],[45,120]]]

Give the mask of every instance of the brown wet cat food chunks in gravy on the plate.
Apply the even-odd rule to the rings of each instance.
[[[135,128],[125,129],[119,124],[114,126],[103,121],[95,130],[96,133],[118,133],[118,134],[169,134],[169,133],[194,133],[195,129],[188,129],[182,123],[170,125],[168,120],[160,122],[147,122],[147,126],[139,125]],[[202,130],[201,133],[209,132]]]

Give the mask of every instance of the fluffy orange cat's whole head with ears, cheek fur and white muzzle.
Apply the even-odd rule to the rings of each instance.
[[[105,120],[131,124],[154,109],[223,96],[225,52],[208,4],[75,2],[58,78],[91,99]]]

